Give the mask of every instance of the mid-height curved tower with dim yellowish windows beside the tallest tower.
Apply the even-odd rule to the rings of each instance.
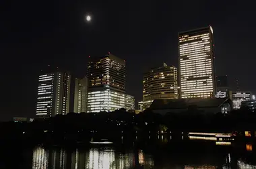
[[[163,66],[152,68],[143,75],[143,109],[154,99],[178,99],[177,68]]]

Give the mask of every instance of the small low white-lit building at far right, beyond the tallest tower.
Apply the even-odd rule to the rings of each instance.
[[[234,92],[232,93],[233,109],[240,109],[242,101],[251,100],[251,92]]]

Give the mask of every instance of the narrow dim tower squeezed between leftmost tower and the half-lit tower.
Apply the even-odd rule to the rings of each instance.
[[[75,98],[74,113],[86,113],[87,111],[87,87],[88,80],[84,78],[75,78]]]

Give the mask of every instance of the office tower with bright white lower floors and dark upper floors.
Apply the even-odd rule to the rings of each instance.
[[[125,108],[125,60],[108,53],[88,61],[88,113]]]

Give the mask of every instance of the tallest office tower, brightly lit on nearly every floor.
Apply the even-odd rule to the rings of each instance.
[[[213,47],[211,26],[179,33],[181,98],[215,96]]]

